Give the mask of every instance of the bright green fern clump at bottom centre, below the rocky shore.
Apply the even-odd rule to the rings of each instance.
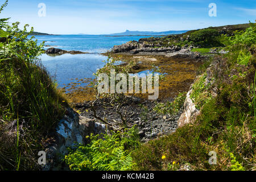
[[[133,169],[130,152],[139,144],[135,127],[124,133],[91,135],[86,146],[78,145],[65,156],[72,171],[126,171]]]

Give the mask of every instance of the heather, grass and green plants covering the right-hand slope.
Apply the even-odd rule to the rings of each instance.
[[[250,26],[226,38],[229,53],[202,66],[190,96],[200,110],[195,122],[133,151],[135,169],[167,170],[164,163],[176,162],[194,170],[255,170],[256,28]],[[216,165],[208,163],[210,151]]]

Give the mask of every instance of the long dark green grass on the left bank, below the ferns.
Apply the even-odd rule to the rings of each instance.
[[[0,78],[0,155],[8,161],[0,158],[1,165],[30,168],[26,158],[34,160],[34,151],[43,147],[42,139],[54,131],[68,105],[40,64],[2,61]]]

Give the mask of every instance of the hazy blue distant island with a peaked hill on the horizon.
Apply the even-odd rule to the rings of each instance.
[[[122,33],[116,33],[116,34],[108,34],[109,36],[123,36],[123,35],[171,35],[171,34],[183,34],[189,30],[180,30],[180,31],[164,31],[164,32],[154,32],[154,31],[129,31],[126,30]]]

